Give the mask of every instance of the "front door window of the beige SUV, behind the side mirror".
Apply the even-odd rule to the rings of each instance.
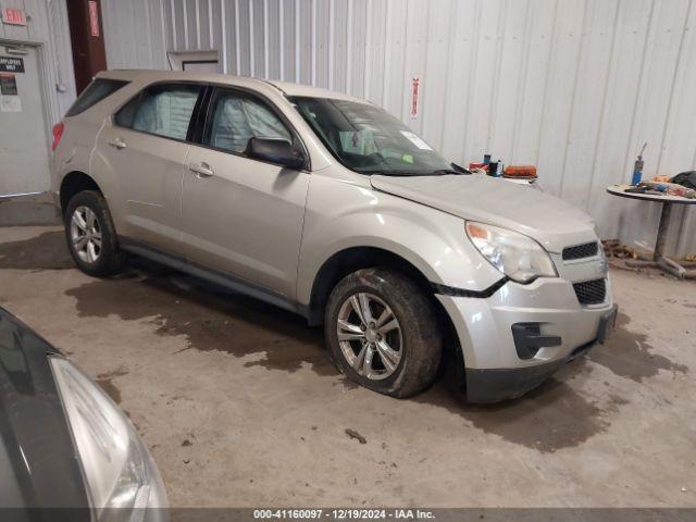
[[[274,138],[293,142],[293,135],[275,113],[251,95],[220,91],[203,144],[231,152],[244,152],[250,138]]]

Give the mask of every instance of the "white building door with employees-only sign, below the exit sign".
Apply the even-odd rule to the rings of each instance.
[[[0,196],[49,189],[49,130],[37,49],[0,42]]]

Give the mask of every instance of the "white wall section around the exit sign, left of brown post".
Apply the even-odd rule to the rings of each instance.
[[[41,45],[46,109],[53,124],[60,121],[75,100],[75,73],[65,0],[0,0],[0,9],[4,8],[24,10],[27,26],[0,24],[0,40]]]

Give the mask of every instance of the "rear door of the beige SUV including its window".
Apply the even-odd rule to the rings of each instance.
[[[182,178],[191,120],[204,86],[160,83],[145,88],[99,135],[97,169],[119,186],[119,234],[181,253]]]

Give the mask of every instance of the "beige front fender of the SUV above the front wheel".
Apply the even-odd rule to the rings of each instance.
[[[355,247],[387,250],[428,281],[483,290],[500,279],[471,245],[460,217],[376,191],[314,175],[310,183],[298,268],[298,301],[310,302],[313,282],[334,254]]]

